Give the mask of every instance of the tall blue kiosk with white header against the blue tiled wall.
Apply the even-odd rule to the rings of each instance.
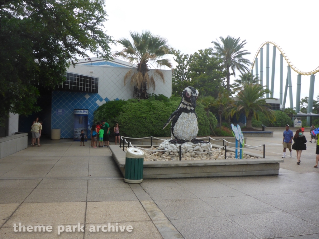
[[[80,141],[81,131],[87,136],[87,121],[88,121],[89,110],[88,109],[74,109],[74,141]],[[87,139],[85,138],[85,142]]]

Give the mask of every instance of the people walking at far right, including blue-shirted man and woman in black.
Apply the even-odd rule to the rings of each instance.
[[[316,140],[316,138],[317,138],[316,164],[315,164],[314,168],[318,168],[319,143],[318,143],[318,134],[316,134],[315,136],[313,136],[311,134],[311,131],[314,130],[314,129],[315,129],[315,125],[313,124],[312,127],[310,128],[310,135],[311,135],[311,139],[315,138],[315,140]],[[284,131],[284,134],[283,134],[284,139],[282,141],[282,144],[284,146],[284,155],[282,156],[282,158],[286,158],[286,148],[288,148],[289,151],[290,151],[290,155],[289,155],[290,158],[292,157],[292,149],[296,150],[296,153],[297,153],[297,164],[300,165],[301,152],[303,150],[307,149],[307,146],[306,146],[307,139],[306,139],[306,136],[303,133],[304,133],[304,130],[297,129],[296,133],[293,134],[293,132],[289,129],[289,125],[286,125],[286,130]],[[293,145],[292,145],[292,141],[294,142]],[[309,141],[309,142],[312,142],[312,141]]]

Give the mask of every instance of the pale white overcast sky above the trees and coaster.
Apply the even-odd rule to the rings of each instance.
[[[212,47],[212,40],[227,35],[246,40],[245,49],[252,62],[264,41],[274,41],[302,71],[319,66],[319,1],[109,1],[105,29],[117,40],[130,31],[150,30],[167,38],[182,53],[193,54]],[[112,50],[120,50],[112,46]],[[264,47],[264,84],[266,82],[266,47]],[[259,57],[260,64],[260,57]],[[270,45],[271,78],[272,45]],[[287,74],[284,60],[284,87]],[[255,68],[255,67],[254,67]],[[260,67],[259,67],[260,70]],[[274,97],[279,98],[279,51],[276,51]],[[254,74],[255,74],[254,69]],[[301,77],[301,98],[309,94],[310,76]],[[271,81],[271,79],[270,79]],[[293,106],[296,105],[297,73],[292,70]],[[314,96],[319,93],[319,73],[315,77]],[[315,98],[314,97],[314,98]],[[286,107],[289,107],[287,95]]]

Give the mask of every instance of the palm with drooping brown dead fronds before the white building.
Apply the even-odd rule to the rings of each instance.
[[[126,80],[131,77],[131,85],[134,86],[134,97],[147,99],[147,87],[153,86],[155,90],[155,81],[153,76],[149,76],[149,64],[155,63],[156,67],[167,66],[172,69],[172,64],[168,59],[163,59],[166,54],[173,54],[173,48],[167,44],[167,39],[159,35],[153,35],[150,31],[142,33],[130,32],[130,39],[121,38],[117,40],[124,49],[114,52],[115,58],[124,58],[130,63],[137,64],[136,71],[130,69],[124,76],[124,85]],[[163,72],[155,69],[155,76],[165,83]]]

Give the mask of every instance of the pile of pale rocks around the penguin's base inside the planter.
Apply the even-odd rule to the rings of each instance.
[[[217,148],[212,148],[211,143],[192,143],[186,142],[183,144],[172,144],[170,140],[163,141],[159,147],[147,148],[148,150],[143,150],[145,152],[144,161],[172,161],[179,160],[179,146],[182,147],[182,160],[225,160],[225,150]],[[175,148],[175,147],[178,148]],[[185,149],[187,148],[187,149]],[[150,149],[154,151],[150,151]],[[156,151],[155,151],[156,150]],[[163,151],[158,151],[163,150]],[[165,151],[164,151],[165,150]],[[192,150],[192,151],[191,151]],[[196,152],[193,152],[196,151]],[[214,151],[214,152],[210,152]],[[238,150],[239,151],[239,150]],[[243,158],[256,158],[244,154]],[[260,157],[258,157],[260,158]],[[226,153],[226,159],[235,159],[235,153],[228,151]]]

